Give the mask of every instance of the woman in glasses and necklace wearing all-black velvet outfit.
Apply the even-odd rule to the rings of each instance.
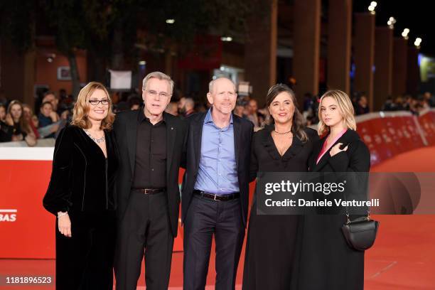
[[[56,219],[56,289],[111,289],[118,151],[109,93],[99,82],[80,90],[71,125],[55,143],[43,198]]]

